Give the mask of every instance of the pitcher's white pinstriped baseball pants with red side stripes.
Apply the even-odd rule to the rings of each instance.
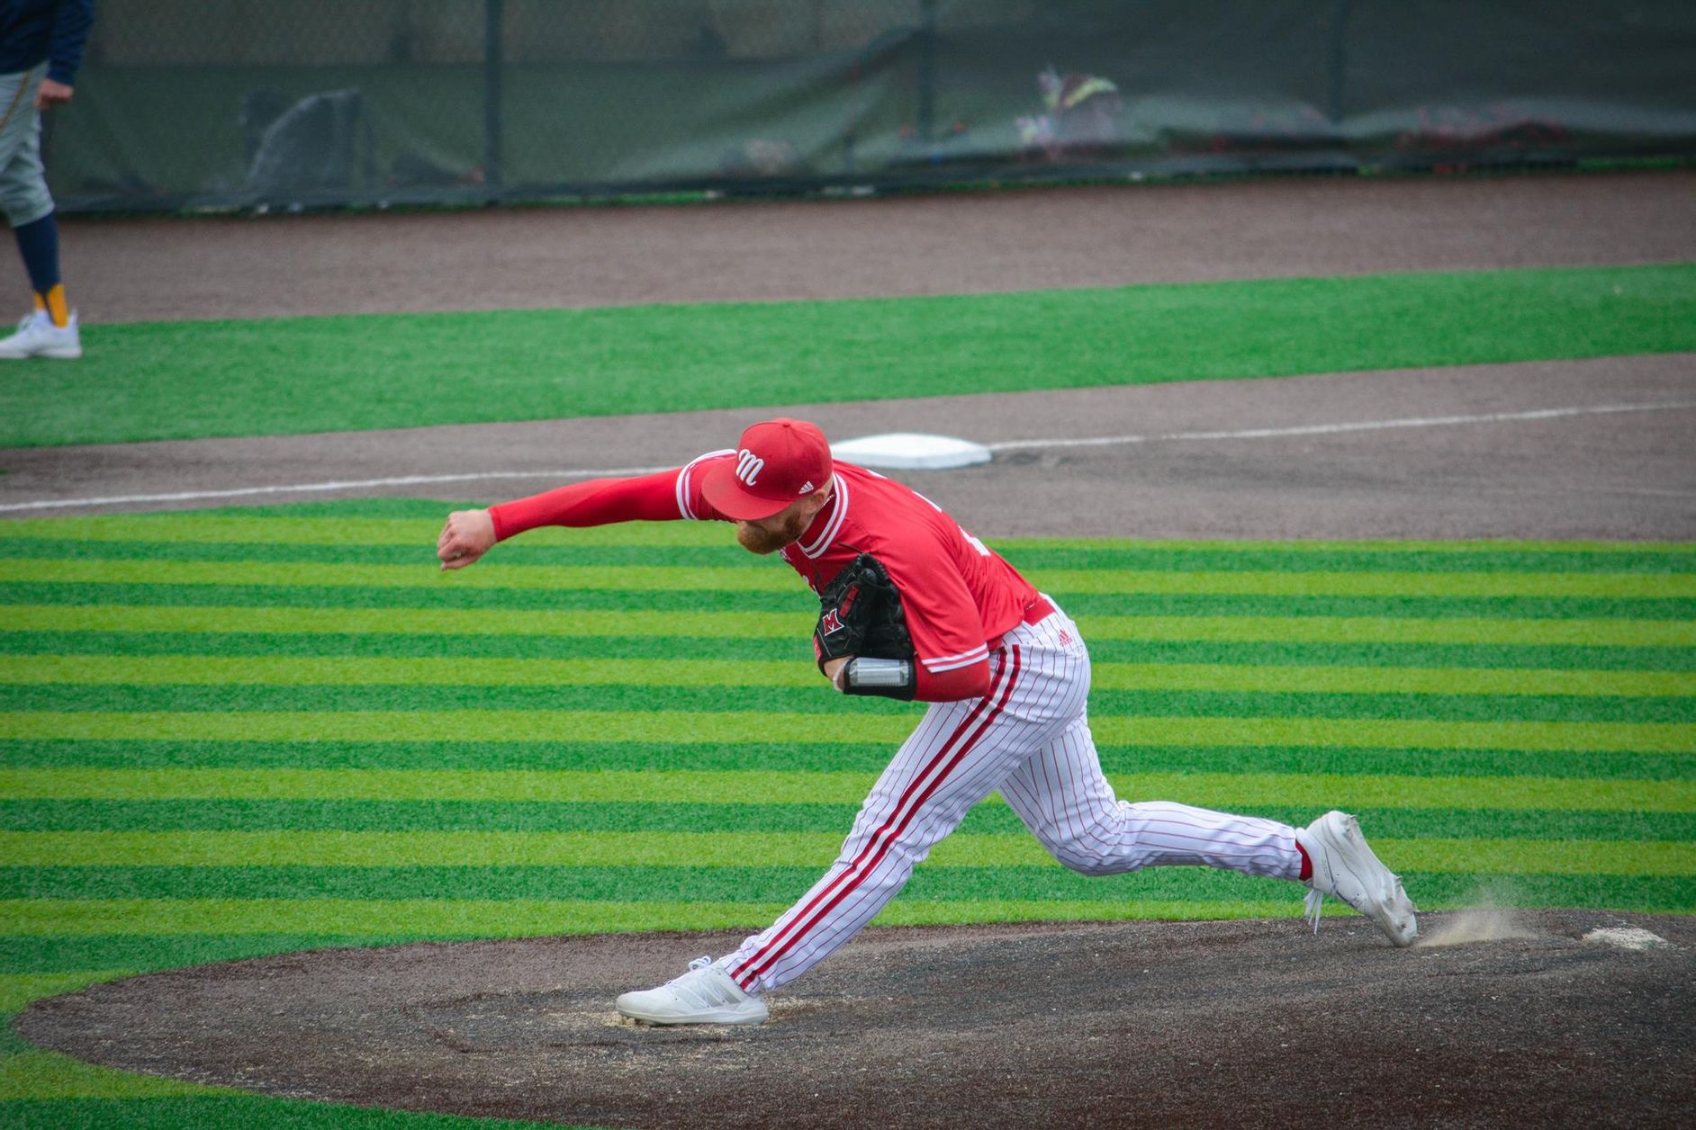
[[[931,705],[824,878],[726,959],[745,989],[775,989],[824,961],[997,788],[1043,847],[1084,874],[1204,864],[1297,878],[1289,825],[1113,795],[1084,712],[1089,652],[1063,612],[1007,632],[989,666],[989,695]]]

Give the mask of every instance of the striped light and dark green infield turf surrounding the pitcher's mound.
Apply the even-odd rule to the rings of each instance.
[[[441,574],[446,508],[0,525],[0,1010],[309,945],[758,927],[806,889],[918,708],[828,693],[795,578],[692,523]],[[1082,625],[1121,795],[1352,808],[1428,910],[1696,911],[1696,546],[997,547]],[[992,798],[879,922],[1294,937],[1299,896],[1077,876]],[[5,1040],[14,1125],[468,1125]]]

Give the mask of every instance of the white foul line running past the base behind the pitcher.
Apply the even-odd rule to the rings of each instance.
[[[1457,424],[1513,424],[1520,420],[1555,420],[1579,415],[1620,412],[1667,412],[1696,408],[1696,400],[1665,400],[1640,405],[1587,405],[1581,408],[1533,408],[1528,412],[1486,412],[1481,415],[1404,417],[1399,420],[1360,420],[1353,424],[1304,424],[1297,427],[1257,427],[1238,432],[1158,432],[1150,435],[1096,435],[1089,439],[1009,439],[984,444],[990,451],[1024,447],[1107,447],[1114,444],[1165,444],[1218,439],[1284,439],[1292,435],[1336,435],[1340,432],[1384,432],[1404,427],[1450,427]],[[473,474],[404,474],[383,479],[343,479],[336,483],[290,483],[285,486],[241,486],[236,490],[178,491],[173,495],[109,495],[103,498],[58,498],[0,505],[0,512],[56,510],[64,507],[115,507],[141,501],[202,501],[209,498],[251,498],[254,495],[305,495],[371,486],[417,486],[422,483],[473,483],[487,479],[592,479],[629,474],[655,474],[668,468],[602,468],[594,471],[480,471]]]

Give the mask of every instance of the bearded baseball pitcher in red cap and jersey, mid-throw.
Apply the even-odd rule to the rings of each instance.
[[[1084,874],[1208,866],[1306,883],[1396,945],[1416,935],[1401,879],[1353,817],[1306,828],[1114,796],[1089,734],[1089,652],[1046,595],[929,498],[831,459],[802,420],[765,420],[734,451],[626,479],[595,479],[448,517],[436,552],[461,569],[539,525],[631,520],[736,523],[751,552],[777,552],[819,595],[812,645],[843,695],[929,703],[884,769],[829,871],[767,930],[702,957],[655,989],[624,993],[634,1020],[760,1023],[789,984],[870,922],[977,801],[1001,789],[1055,859]]]

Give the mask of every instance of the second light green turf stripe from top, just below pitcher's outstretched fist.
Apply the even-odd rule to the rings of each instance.
[[[441,573],[417,566],[278,561],[80,561],[0,559],[0,583],[103,584],[309,584],[321,588],[546,588],[661,591],[799,591],[789,569],[753,566],[507,566],[480,562]],[[1216,593],[1264,596],[1589,596],[1691,598],[1696,574],[1642,573],[1236,573],[1163,569],[1038,569],[1038,588],[1053,593]]]

